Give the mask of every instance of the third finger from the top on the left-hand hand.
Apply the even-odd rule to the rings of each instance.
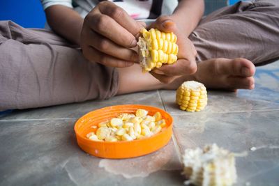
[[[87,35],[89,36],[87,37],[87,44],[98,49],[98,51],[125,61],[139,61],[139,55],[132,49],[121,47],[92,30]]]

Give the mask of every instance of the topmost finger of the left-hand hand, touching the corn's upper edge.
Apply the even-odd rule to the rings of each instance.
[[[110,1],[103,1],[99,6],[100,13],[108,15],[112,17],[113,20],[118,22],[124,29],[128,30],[133,36],[136,36],[137,33],[140,32],[143,26],[137,24],[135,20],[133,20],[125,10],[121,7],[116,6],[114,3]]]

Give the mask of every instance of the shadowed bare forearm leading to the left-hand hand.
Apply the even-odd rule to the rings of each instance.
[[[45,10],[47,23],[59,35],[80,45],[80,32],[83,19],[75,10],[66,6],[54,5]]]

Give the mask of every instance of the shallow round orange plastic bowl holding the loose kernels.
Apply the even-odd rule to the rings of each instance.
[[[162,118],[166,121],[166,127],[163,127],[161,132],[151,137],[135,139],[133,141],[92,141],[86,138],[86,134],[89,132],[96,132],[97,128],[92,127],[93,125],[98,126],[98,123],[119,116],[121,113],[135,114],[137,109],[146,109],[149,111],[149,115],[160,111]],[[75,134],[77,144],[80,148],[91,155],[112,159],[137,157],[153,153],[169,142],[169,139],[172,137],[172,116],[162,109],[140,104],[123,104],[105,107],[82,116],[75,123]]]

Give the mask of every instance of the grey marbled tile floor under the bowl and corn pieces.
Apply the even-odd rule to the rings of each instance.
[[[236,185],[279,185],[279,63],[257,68],[255,82],[252,91],[208,91],[209,104],[198,113],[180,111],[175,91],[149,91],[2,115],[0,185],[183,185],[183,151],[213,143],[248,153],[236,158]],[[172,141],[126,160],[84,153],[75,141],[75,121],[114,104],[165,109],[174,118]]]

